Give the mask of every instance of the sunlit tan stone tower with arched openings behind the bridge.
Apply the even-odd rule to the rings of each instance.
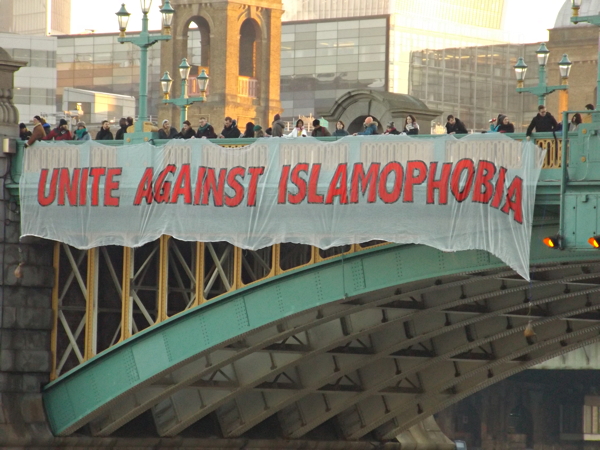
[[[273,115],[281,112],[281,0],[178,0],[174,7],[173,39],[161,49],[161,73],[169,71],[174,80],[172,98],[181,94],[178,66],[191,57],[192,22],[200,32],[201,67],[210,76],[207,102],[188,110],[194,128],[201,115],[208,116],[217,133],[225,116],[237,119],[242,132],[248,121],[270,126]],[[194,83],[188,84],[193,90]],[[164,118],[181,125],[175,106],[160,107],[159,119]]]

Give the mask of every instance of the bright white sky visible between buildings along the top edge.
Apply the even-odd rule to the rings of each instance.
[[[326,0],[324,0],[326,1]],[[485,2],[487,0],[480,0]],[[548,28],[554,26],[556,15],[565,0],[505,0],[508,31],[512,42],[540,42],[548,39]],[[117,16],[123,0],[104,0],[101,8],[90,9],[90,0],[72,0],[71,32],[117,32]],[[160,29],[161,0],[154,0],[150,12],[150,29]],[[177,0],[171,3],[177,10]],[[127,31],[139,31],[142,13],[137,0],[126,2],[131,13]]]

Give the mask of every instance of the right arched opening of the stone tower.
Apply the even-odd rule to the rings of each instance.
[[[258,97],[259,26],[246,19],[240,28],[238,95]]]

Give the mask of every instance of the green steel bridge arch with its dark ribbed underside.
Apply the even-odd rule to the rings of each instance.
[[[150,409],[161,436],[214,414],[226,437],[276,416],[289,438],[335,419],[346,439],[392,439],[600,339],[600,260],[545,248],[552,229],[534,230],[531,284],[485,252],[387,245],[235,291],[48,385],[53,431],[109,435]]]

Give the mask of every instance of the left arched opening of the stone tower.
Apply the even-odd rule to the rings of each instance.
[[[192,66],[188,79],[188,95],[200,95],[196,77],[202,69],[210,75],[210,26],[203,17],[194,17],[188,25],[187,60]]]

